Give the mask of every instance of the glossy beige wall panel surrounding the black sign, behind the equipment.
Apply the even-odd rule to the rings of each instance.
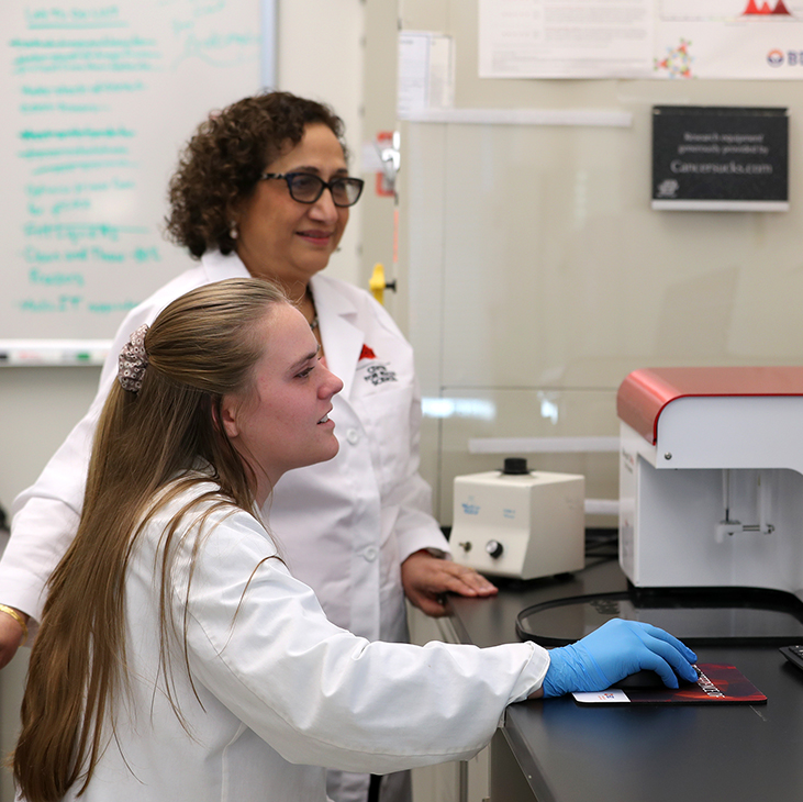
[[[458,108],[604,109],[632,124],[401,126],[408,331],[424,399],[456,410],[425,417],[421,441],[442,524],[455,476],[504,456],[618,498],[615,453],[471,454],[470,439],[615,438],[632,370],[803,361],[801,82],[480,79],[477,8],[402,3],[402,29],[454,36]],[[788,108],[790,211],[651,210],[662,104]]]

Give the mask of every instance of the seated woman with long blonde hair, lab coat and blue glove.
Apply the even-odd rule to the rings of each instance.
[[[33,646],[13,756],[29,802],[324,802],[319,767],[467,759],[511,702],[694,673],[680,642],[632,622],[551,654],[330,623],[257,512],[286,471],[337,453],[343,385],[319,353],[257,279],[193,290],[132,334]]]

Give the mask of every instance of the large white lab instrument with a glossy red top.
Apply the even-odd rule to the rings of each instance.
[[[803,599],[803,367],[645,368],[617,412],[631,582]]]

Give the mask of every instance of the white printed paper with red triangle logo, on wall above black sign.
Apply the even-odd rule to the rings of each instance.
[[[801,0],[478,0],[480,78],[803,79]]]

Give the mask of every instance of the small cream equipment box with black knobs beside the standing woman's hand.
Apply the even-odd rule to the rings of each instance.
[[[584,499],[584,477],[529,471],[523,459],[506,459],[504,471],[455,477],[453,557],[481,573],[520,579],[578,571]]]

